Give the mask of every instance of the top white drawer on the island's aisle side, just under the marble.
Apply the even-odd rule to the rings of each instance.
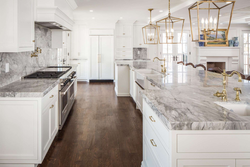
[[[159,136],[164,148],[169,150],[170,148],[170,133],[165,125],[161,122],[159,117],[150,108],[150,106],[143,100],[143,115],[149,124],[154,129],[155,133]]]

